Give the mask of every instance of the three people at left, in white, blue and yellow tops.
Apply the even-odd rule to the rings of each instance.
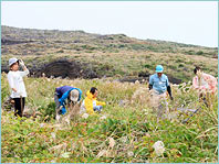
[[[23,70],[19,70],[19,67],[22,67]],[[22,117],[23,109],[25,103],[25,86],[23,83],[23,77],[29,74],[28,68],[25,67],[22,59],[10,58],[9,59],[10,70],[8,73],[9,86],[11,88],[11,95],[14,102],[14,116]],[[95,87],[92,87],[86,91],[86,98],[83,100],[82,110],[88,114],[94,112],[101,112],[105,102],[97,101],[98,90]],[[54,101],[55,101],[55,116],[63,116],[67,112],[66,107],[70,103],[77,103],[82,99],[82,90],[80,88],[71,86],[58,87],[54,90]]]

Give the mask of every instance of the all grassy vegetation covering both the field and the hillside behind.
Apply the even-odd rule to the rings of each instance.
[[[22,58],[28,68],[59,59],[80,62],[104,79],[24,79],[27,109],[41,112],[36,118],[1,114],[2,163],[218,163],[218,97],[210,107],[197,101],[189,83],[195,65],[218,76],[218,48],[165,41],[136,40],[124,34],[98,35],[83,31],[48,31],[2,26],[1,68],[8,70],[10,57]],[[165,74],[181,79],[168,99],[169,116],[159,123],[149,107],[148,84],[118,83],[113,79],[154,74],[161,64]],[[38,69],[36,69],[38,70]],[[187,84],[186,84],[187,83]],[[106,101],[101,114],[79,116],[70,124],[56,123],[55,87],[71,85],[84,94],[91,87]],[[9,96],[6,74],[1,77],[1,101]],[[187,124],[184,107],[200,110]],[[104,119],[103,117],[106,117]],[[163,141],[165,152],[157,156],[153,144]]]

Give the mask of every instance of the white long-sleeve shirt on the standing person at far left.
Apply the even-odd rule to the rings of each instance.
[[[20,98],[20,96],[22,97],[27,97],[27,91],[25,91],[25,86],[23,83],[23,77],[27,76],[29,74],[29,70],[24,70],[24,72],[12,72],[10,70],[8,73],[8,80],[9,80],[9,86],[11,88],[11,98]],[[12,88],[14,88],[17,90],[17,92],[14,90],[12,90]],[[21,94],[21,95],[20,95]]]

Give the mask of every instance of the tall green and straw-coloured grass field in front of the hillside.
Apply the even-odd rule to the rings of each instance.
[[[148,107],[145,85],[101,79],[27,78],[24,81],[29,95],[27,106],[40,110],[43,117],[35,121],[24,119],[20,123],[12,113],[2,111],[2,162],[218,162],[217,96],[211,98],[212,107],[202,107],[188,124],[180,123],[184,116],[157,124],[156,116]],[[106,101],[107,106],[100,116],[79,118],[71,125],[55,124],[53,119],[43,122],[45,116],[54,110],[53,91],[61,85],[79,87],[83,94],[95,86],[100,90],[98,99]],[[1,86],[4,100],[9,95],[4,74]],[[173,94],[175,100],[169,101],[171,113],[181,105],[198,106],[197,95],[189,84],[173,86]],[[126,103],[119,106],[121,100]],[[101,120],[102,116],[106,119]],[[109,146],[111,138],[115,141],[113,147]],[[158,140],[166,147],[160,157],[152,147]],[[61,151],[50,151],[50,147],[61,144],[64,144]],[[107,153],[100,155],[103,150]]]

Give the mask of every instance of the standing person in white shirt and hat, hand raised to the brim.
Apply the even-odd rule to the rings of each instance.
[[[20,66],[23,69],[22,72],[19,70]],[[24,106],[25,106],[25,97],[27,97],[23,77],[29,74],[29,70],[25,67],[23,61],[18,59],[18,58],[10,58],[9,67],[10,67],[10,70],[8,73],[8,81],[9,81],[9,86],[11,88],[10,97],[14,101],[14,116],[22,117]]]

